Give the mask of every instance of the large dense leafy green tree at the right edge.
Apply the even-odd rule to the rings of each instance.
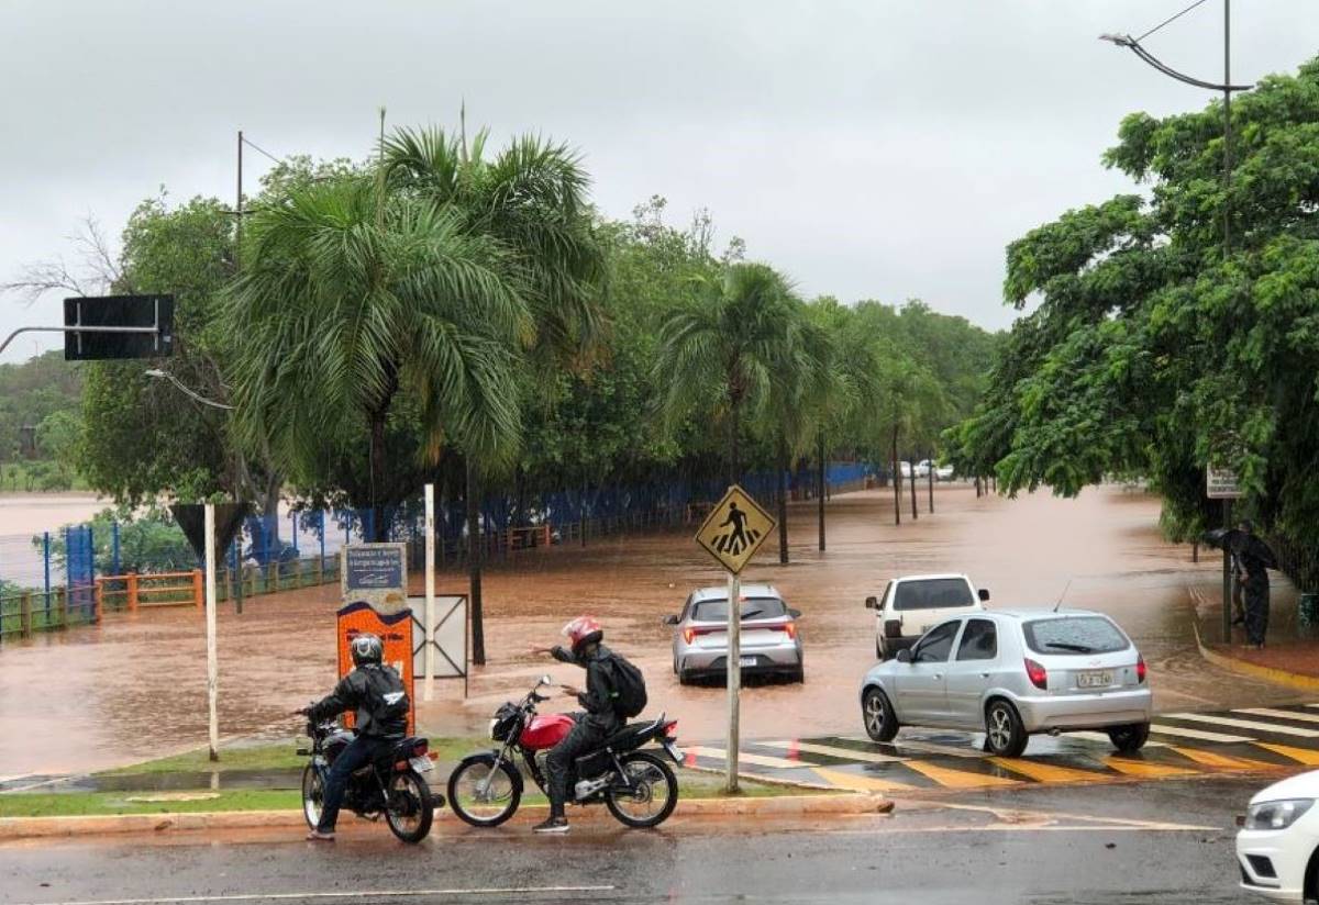
[[[1145,474],[1174,537],[1220,518],[1204,468],[1235,468],[1246,508],[1314,584],[1319,62],[1262,80],[1232,117],[1227,188],[1220,105],[1134,113],[1104,162],[1148,195],[1068,211],[1009,246],[1004,294],[1039,307],[1013,328],[958,456],[1009,493]]]

